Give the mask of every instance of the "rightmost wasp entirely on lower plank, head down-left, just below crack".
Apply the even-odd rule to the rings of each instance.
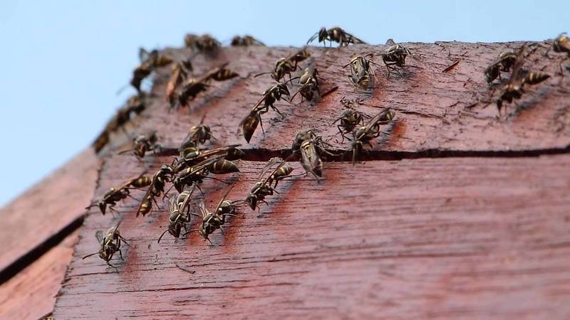
[[[266,175],[275,161],[280,162],[270,174]],[[271,159],[264,169],[261,170],[261,174],[259,174],[257,182],[245,198],[245,202],[249,205],[249,208],[252,208],[252,210],[255,210],[255,208],[259,209],[259,206],[257,206],[258,202],[266,203],[264,200],[266,196],[273,196],[274,193],[277,193],[275,190],[277,182],[289,176],[291,171],[293,171],[291,168],[281,170],[285,164],[286,160],[281,160],[279,158]],[[264,175],[266,175],[266,177],[264,177]],[[271,183],[274,183],[274,186],[271,186]]]

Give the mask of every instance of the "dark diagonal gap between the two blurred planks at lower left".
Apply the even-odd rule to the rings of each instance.
[[[18,260],[14,261],[11,265],[0,271],[0,285],[4,282],[14,277],[16,274],[24,270],[28,265],[38,260],[44,253],[48,252],[51,248],[59,245],[61,241],[71,235],[73,231],[77,230],[81,225],[83,225],[84,215],[76,218],[70,224],[66,225],[63,229],[59,230],[57,233],[52,235],[46,241],[42,242],[38,246],[34,247],[32,250],[26,252],[25,255],[19,257]],[[21,235],[24,237],[25,235]]]

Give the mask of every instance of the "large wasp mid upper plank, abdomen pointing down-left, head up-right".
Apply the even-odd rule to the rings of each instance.
[[[261,123],[261,114],[269,111],[269,108],[275,110],[281,117],[284,117],[281,112],[274,106],[276,101],[281,100],[284,95],[289,96],[289,88],[285,83],[279,83],[279,85],[274,85],[269,89],[265,90],[261,99],[254,105],[252,110],[247,114],[247,116],[239,122],[244,132],[244,138],[249,143],[252,136],[257,129],[257,125]],[[261,124],[261,131],[263,131],[263,124]],[[264,132],[265,134],[265,132]]]

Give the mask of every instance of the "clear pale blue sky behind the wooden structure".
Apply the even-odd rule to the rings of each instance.
[[[570,31],[570,8],[498,0],[1,1],[0,206],[90,144],[133,93],[115,95],[139,46],[181,46],[187,32],[301,46],[321,26],[369,43],[532,41]]]

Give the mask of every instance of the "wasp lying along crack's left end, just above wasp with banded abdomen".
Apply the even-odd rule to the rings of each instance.
[[[175,159],[173,169],[176,173],[182,171],[187,166],[192,166],[200,161],[204,161],[212,156],[219,156],[226,160],[241,159],[245,154],[244,151],[237,149],[239,144],[231,144],[229,146],[220,146],[214,149],[200,150],[197,148],[186,148],[180,151],[180,157]]]

